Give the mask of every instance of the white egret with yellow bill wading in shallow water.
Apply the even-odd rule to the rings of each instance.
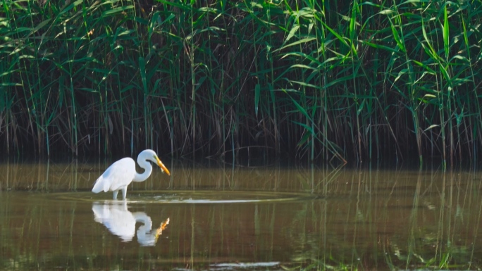
[[[102,173],[95,182],[92,192],[113,191],[113,199],[116,199],[118,191],[122,190],[122,198],[125,200],[127,187],[132,181],[144,182],[151,175],[152,165],[147,160],[157,163],[163,172],[171,175],[166,166],[159,160],[155,151],[144,150],[137,156],[137,163],[141,168],[144,168],[144,173],[140,174],[135,171],[135,162],[132,158],[122,158]]]

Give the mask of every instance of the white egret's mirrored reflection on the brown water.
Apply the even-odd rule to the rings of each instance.
[[[112,234],[121,237],[125,242],[132,241],[136,222],[144,224],[137,229],[137,241],[141,246],[154,246],[162,231],[169,224],[168,218],[161,223],[159,228],[152,230],[152,220],[149,215],[144,212],[131,213],[125,201],[95,202],[92,204],[92,211],[96,222],[106,226]]]

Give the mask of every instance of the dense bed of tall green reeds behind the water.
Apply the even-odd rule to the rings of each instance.
[[[481,1],[2,1],[5,153],[476,160]]]

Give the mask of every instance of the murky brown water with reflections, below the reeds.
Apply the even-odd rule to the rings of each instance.
[[[171,163],[124,203],[107,166],[0,164],[0,270],[482,267],[478,172]]]

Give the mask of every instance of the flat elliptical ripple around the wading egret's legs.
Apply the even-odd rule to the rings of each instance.
[[[52,199],[69,201],[113,201],[112,192],[50,194]],[[118,195],[118,201],[122,199]],[[252,203],[274,201],[304,201],[317,198],[314,194],[270,191],[128,191],[128,203]]]

